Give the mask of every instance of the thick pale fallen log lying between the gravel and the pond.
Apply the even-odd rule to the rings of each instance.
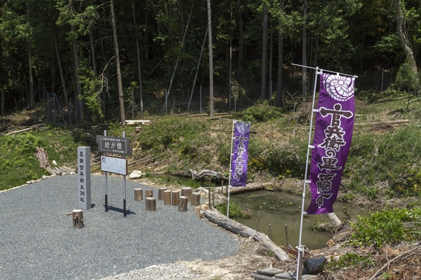
[[[252,228],[248,228],[246,225],[227,218],[215,210],[206,210],[203,212],[203,216],[210,222],[215,223],[221,228],[225,228],[225,230],[229,230],[236,235],[252,237],[255,241],[261,242],[266,248],[274,252],[275,258],[277,260],[289,260],[288,253],[279,248],[279,246],[276,246],[276,244],[274,244],[274,242],[264,233],[253,230]]]

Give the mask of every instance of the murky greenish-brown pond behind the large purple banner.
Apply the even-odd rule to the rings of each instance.
[[[298,246],[302,197],[283,192],[258,190],[252,193],[232,195],[229,201],[238,204],[241,209],[253,211],[252,218],[236,219],[239,223],[263,232],[268,236],[270,224],[272,241],[281,246],[286,245],[285,225],[288,225],[288,244],[294,248]],[[309,201],[310,198],[306,197],[305,207],[309,205]],[[348,214],[352,217],[367,213],[364,209],[340,202],[335,202],[333,209],[341,221],[345,218],[343,209],[347,209]],[[329,219],[327,215],[304,216],[301,243],[305,244],[309,249],[326,247],[326,242],[332,238],[332,235],[328,232],[312,230],[312,226],[316,221],[329,221]]]

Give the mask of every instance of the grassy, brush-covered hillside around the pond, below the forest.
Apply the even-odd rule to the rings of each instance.
[[[4,127],[0,137],[0,148],[4,151],[0,190],[49,175],[45,169],[39,168],[34,156],[36,146],[43,147],[50,162],[55,160],[58,166],[76,165],[77,146],[91,146],[91,158],[98,161],[95,135],[103,134],[104,130],[109,136],[118,137],[125,131],[126,137],[131,139],[130,171],[140,169],[149,176],[210,169],[227,175],[232,130],[230,119],[235,118],[252,122],[248,183],[270,183],[275,190],[301,195],[310,107],[309,102],[302,102],[295,112],[288,113],[264,102],[221,118],[154,116],[149,118],[150,125],[142,126],[138,133],[134,126],[120,127],[116,123],[83,127],[46,124],[43,123],[42,107],[35,107],[0,120],[0,126]],[[346,229],[352,229],[354,233],[346,235],[345,244],[342,244],[343,239],[338,241],[340,238],[335,237],[338,242],[335,246],[312,252],[314,256],[331,256],[324,274],[326,279],[331,276],[336,276],[336,279],[368,277],[387,263],[388,256],[402,257],[406,251],[415,248],[413,242],[419,240],[417,232],[420,232],[417,223],[413,223],[414,217],[420,214],[420,117],[419,102],[411,103],[406,110],[405,97],[388,97],[371,104],[357,100],[354,138],[338,200],[380,211],[373,212],[372,217],[347,223]],[[154,184],[163,182],[150,176],[149,181]],[[379,217],[389,220],[379,223]],[[252,258],[257,252],[255,250],[258,248],[250,247],[246,250],[248,257],[236,255],[235,258],[240,258],[245,269],[256,267]],[[392,275],[390,271],[393,269],[397,271],[397,278],[386,279],[417,275],[420,262],[415,257],[410,260],[401,258],[389,265],[383,275]],[[200,262],[190,265],[203,267]],[[221,262],[206,265],[220,267]],[[293,267],[292,263],[288,265],[289,269]],[[274,266],[284,269],[288,265],[274,262]],[[234,268],[227,269],[232,272]],[[235,275],[240,278],[235,278]],[[234,273],[233,279],[241,279],[244,275],[244,272]]]

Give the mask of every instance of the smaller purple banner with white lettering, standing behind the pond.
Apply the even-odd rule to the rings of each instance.
[[[247,181],[247,150],[248,139],[250,137],[250,123],[234,121],[233,137],[231,186],[245,187]]]

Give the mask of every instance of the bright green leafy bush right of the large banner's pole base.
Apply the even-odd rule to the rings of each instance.
[[[381,248],[399,241],[415,241],[421,237],[421,209],[385,209],[368,217],[358,216],[351,223],[352,242]]]

